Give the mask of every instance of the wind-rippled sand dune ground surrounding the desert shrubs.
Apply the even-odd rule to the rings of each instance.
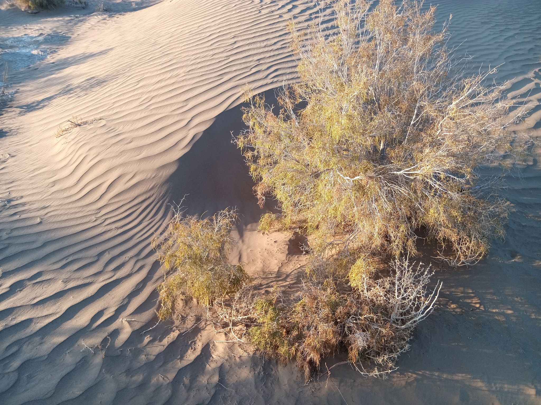
[[[472,70],[505,62],[512,94],[541,99],[539,7],[439,3],[442,20],[453,13],[452,43],[476,56]],[[230,131],[242,128],[243,85],[294,78],[286,22],[314,10],[173,0],[126,14],[0,11],[0,37],[69,37],[12,73],[17,91],[0,116],[0,403],[541,403],[539,149],[505,191],[506,241],[473,269],[439,273],[440,308],[387,381],[342,366],[305,386],[293,365],[214,343],[197,316],[141,334],[155,324],[160,281],[149,240],[186,193],[190,213],[239,207],[233,259],[263,281],[292,279],[298,252],[287,235],[255,232],[260,212]],[[103,119],[55,139],[73,115]],[[539,106],[519,130],[541,134]]]

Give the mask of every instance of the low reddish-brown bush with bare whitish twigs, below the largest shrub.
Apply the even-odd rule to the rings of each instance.
[[[250,342],[283,362],[296,359],[307,380],[340,349],[362,374],[386,375],[408,350],[414,327],[434,309],[441,288],[438,282],[427,289],[429,268],[397,260],[393,269],[394,275],[367,278],[362,289],[341,280],[307,282],[293,305],[283,305],[278,294],[259,298],[259,325],[248,329]]]

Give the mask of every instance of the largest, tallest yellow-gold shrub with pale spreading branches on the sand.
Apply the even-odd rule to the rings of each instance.
[[[261,228],[299,228],[320,253],[332,239],[334,252],[349,251],[345,268],[355,252],[415,254],[423,228],[454,252],[450,264],[474,264],[503,236],[509,206],[478,168],[523,150],[506,131],[503,87],[485,86],[496,70],[461,76],[434,7],[334,5],[335,31],[292,26],[300,83],[279,110],[262,96],[245,109],[237,145],[260,204],[271,196],[281,210]]]

